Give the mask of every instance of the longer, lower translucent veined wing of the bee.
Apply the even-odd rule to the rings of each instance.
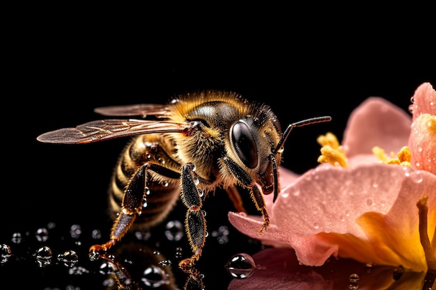
[[[97,120],[81,124],[75,128],[63,128],[49,131],[38,136],[44,143],[79,144],[98,142],[113,138],[150,133],[185,133],[189,131],[189,122],[162,122],[152,120]]]

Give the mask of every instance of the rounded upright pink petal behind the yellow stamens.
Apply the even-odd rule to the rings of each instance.
[[[370,97],[352,111],[343,134],[347,156],[371,154],[374,146],[387,154],[397,153],[407,144],[412,118],[394,104]]]

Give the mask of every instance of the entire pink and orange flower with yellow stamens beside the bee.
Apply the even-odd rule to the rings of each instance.
[[[430,83],[419,86],[412,102],[410,118],[384,99],[367,99],[350,115],[343,145],[321,140],[325,164],[300,177],[281,169],[279,198],[273,205],[265,196],[267,232],[258,233],[256,216],[229,213],[231,223],[267,245],[293,248],[307,266],[334,256],[436,270],[436,92]],[[399,154],[381,162],[383,152]]]

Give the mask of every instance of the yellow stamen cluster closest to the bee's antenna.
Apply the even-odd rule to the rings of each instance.
[[[321,156],[318,157],[319,163],[330,163],[334,166],[348,167],[347,156],[338,142],[338,138],[332,133],[319,136],[318,143],[322,146]]]

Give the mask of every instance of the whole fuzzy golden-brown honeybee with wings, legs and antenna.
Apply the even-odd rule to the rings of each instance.
[[[195,92],[169,104],[110,106],[95,112],[143,119],[98,120],[38,136],[46,143],[90,143],[138,135],[125,147],[114,170],[109,200],[118,216],[110,239],[90,251],[111,248],[132,225],[159,223],[180,197],[187,207],[185,227],[193,255],[179,266],[191,274],[197,273],[193,265],[205,243],[203,195],[224,188],[235,208],[244,211],[236,186],[247,188],[263,216],[262,232],[270,223],[263,194],[274,193],[277,198],[277,168],[290,130],[330,120],[296,122],[282,134],[269,106],[221,91]]]

